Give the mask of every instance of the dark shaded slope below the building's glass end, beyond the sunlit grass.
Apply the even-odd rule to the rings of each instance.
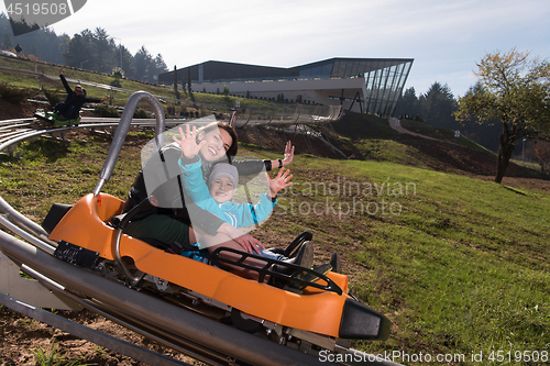
[[[392,162],[430,170],[494,176],[496,155],[466,138],[454,137],[454,131],[436,129],[422,122],[402,121],[402,125],[421,138],[402,134],[389,126],[387,119],[346,112],[333,123],[334,131],[346,144],[360,149],[359,159]],[[497,135],[494,138],[498,138]],[[509,177],[542,178],[534,165],[510,163]]]

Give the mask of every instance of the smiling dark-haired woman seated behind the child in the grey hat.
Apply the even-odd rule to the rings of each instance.
[[[231,162],[231,156],[237,155],[237,134],[227,123],[212,122],[197,130],[196,141],[199,146],[198,155],[202,162],[215,163],[221,159]],[[257,247],[264,248],[252,235],[189,203],[191,200],[184,193],[179,178],[182,168],[178,162],[182,156],[182,147],[174,143],[164,147],[160,157],[155,156],[155,159],[144,164],[130,189],[123,212],[129,212],[153,192],[161,204],[134,217],[124,232],[153,245],[164,243],[176,253],[197,243],[198,235],[207,237],[210,251],[218,246],[248,253],[256,253]],[[272,167],[287,166],[293,158],[294,146],[288,142],[284,159],[243,160],[234,162],[233,165],[240,175],[250,176],[262,170],[271,170]],[[206,166],[208,168],[208,165]]]

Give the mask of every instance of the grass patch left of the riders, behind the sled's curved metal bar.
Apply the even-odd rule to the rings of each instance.
[[[53,203],[74,203],[94,190],[109,147],[110,141],[92,136],[68,146],[51,138],[24,142],[18,147],[21,160],[0,155],[2,197],[40,223]],[[125,148],[106,192],[124,198],[140,169],[139,154],[139,147]]]

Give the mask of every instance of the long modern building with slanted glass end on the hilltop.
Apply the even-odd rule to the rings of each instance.
[[[191,79],[195,92],[307,104],[341,104],[345,110],[391,117],[403,92],[413,58],[330,58],[290,68],[206,62],[180,68],[178,84]],[[174,71],[158,75],[174,84]]]

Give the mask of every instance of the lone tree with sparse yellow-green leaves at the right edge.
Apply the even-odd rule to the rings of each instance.
[[[495,176],[499,184],[518,140],[550,137],[550,64],[513,48],[487,54],[476,65],[480,88],[459,99],[455,115],[459,121],[502,121]]]

